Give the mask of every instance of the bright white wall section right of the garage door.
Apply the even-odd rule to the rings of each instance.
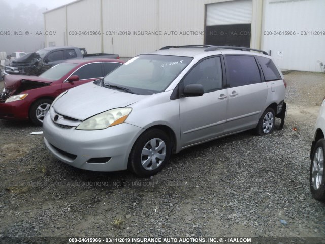
[[[325,35],[312,32],[324,30],[324,10],[323,0],[265,1],[262,49],[271,50],[281,69],[321,71],[318,61],[325,61]],[[293,31],[296,35],[285,35],[283,31]],[[302,35],[303,31],[306,35]]]

